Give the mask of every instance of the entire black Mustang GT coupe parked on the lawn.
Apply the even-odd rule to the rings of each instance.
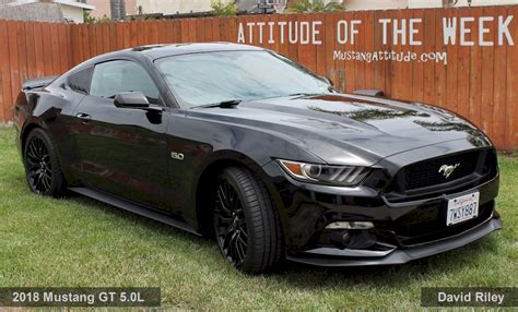
[[[283,259],[398,264],[502,228],[496,153],[454,113],[361,94],[269,50],[146,46],[27,82],[31,190],[212,236],[248,273]]]

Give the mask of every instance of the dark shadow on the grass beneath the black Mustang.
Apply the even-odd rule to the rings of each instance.
[[[220,259],[215,249],[215,241],[188,233],[175,227],[161,224],[137,214],[101,203],[98,201],[78,195],[69,194],[68,199],[85,208],[94,208],[115,215],[121,220],[137,224],[144,227],[156,236],[174,237],[176,240],[184,240],[188,244],[196,244],[196,248],[207,249],[207,253],[214,253],[214,256],[203,257],[198,261],[207,262],[200,265],[210,266],[211,269],[221,269],[221,274],[228,274],[228,266],[221,260],[221,267],[214,265],[214,261]],[[153,236],[150,236],[152,238]],[[285,262],[283,266],[261,276],[247,276],[236,272],[242,278],[266,278],[271,281],[289,284],[291,287],[299,289],[313,289],[318,287],[334,288],[340,286],[343,289],[350,287],[404,287],[411,280],[428,280],[440,275],[455,274],[466,268],[467,265],[476,265],[480,257],[487,252],[497,252],[497,241],[494,236],[490,236],[472,242],[466,247],[416,260],[401,265],[363,266],[363,267],[318,267],[294,262]],[[173,245],[172,245],[173,248]],[[215,268],[214,268],[215,267]]]

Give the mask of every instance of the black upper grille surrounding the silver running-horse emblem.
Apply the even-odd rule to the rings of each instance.
[[[470,176],[476,170],[480,156],[481,153],[474,151],[410,165],[404,168],[404,189],[434,187]],[[448,178],[439,172],[443,165],[455,166],[456,164],[459,166]]]

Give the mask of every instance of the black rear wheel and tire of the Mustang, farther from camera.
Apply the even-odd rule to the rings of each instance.
[[[32,130],[23,151],[25,178],[31,191],[45,196],[62,196],[66,181],[48,134],[39,128]]]

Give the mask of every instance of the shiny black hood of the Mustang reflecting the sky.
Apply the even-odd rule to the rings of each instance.
[[[232,109],[204,112],[291,137],[323,161],[337,165],[370,166],[395,154],[454,140],[468,140],[473,146],[491,144],[475,127],[449,111],[356,95],[244,101]]]

